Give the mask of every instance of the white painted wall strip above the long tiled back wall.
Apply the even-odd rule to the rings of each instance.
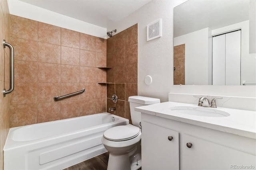
[[[19,0],[8,0],[10,14],[106,39],[106,28],[76,20]],[[60,6],[61,8],[61,6]]]

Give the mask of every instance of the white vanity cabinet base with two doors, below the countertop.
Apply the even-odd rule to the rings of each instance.
[[[255,144],[252,138],[142,113],[143,170],[255,168]]]

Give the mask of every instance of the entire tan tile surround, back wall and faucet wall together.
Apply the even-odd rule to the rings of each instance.
[[[130,119],[128,95],[137,95],[137,30],[136,24],[106,40],[11,15],[15,88],[10,127],[105,112],[109,90],[97,82],[112,83],[107,88],[120,96],[116,114]],[[97,68],[110,66],[111,59],[113,68]],[[86,92],[80,95],[53,100],[82,88]]]

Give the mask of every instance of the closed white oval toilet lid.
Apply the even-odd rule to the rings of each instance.
[[[104,137],[110,141],[126,141],[140,133],[140,128],[134,125],[121,125],[112,127],[104,132]]]

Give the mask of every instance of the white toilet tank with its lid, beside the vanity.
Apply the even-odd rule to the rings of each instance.
[[[148,98],[144,96],[130,96],[128,98],[128,102],[130,104],[132,124],[134,126],[140,127],[139,123],[141,122],[141,113],[138,111],[135,111],[134,108],[139,106],[146,106],[150,104],[160,103],[160,99]]]

